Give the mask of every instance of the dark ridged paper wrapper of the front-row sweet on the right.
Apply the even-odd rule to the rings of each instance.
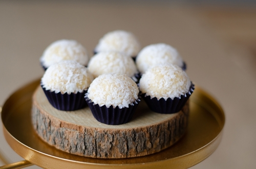
[[[180,98],[176,97],[173,100],[170,98],[167,100],[164,100],[163,98],[157,100],[156,97],[151,98],[150,95],[145,96],[145,93],[143,93],[141,96],[152,111],[161,114],[172,114],[179,112],[183,108],[194,89],[195,85],[191,82],[189,91],[185,93],[185,95],[181,95]]]

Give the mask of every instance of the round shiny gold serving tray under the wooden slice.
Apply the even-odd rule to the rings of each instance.
[[[36,80],[10,96],[2,109],[2,122],[11,148],[42,168],[188,168],[207,158],[221,141],[224,112],[214,98],[196,85],[190,96],[188,131],[172,147],[126,159],[98,159],[62,152],[42,141],[32,129],[31,98],[39,83]]]

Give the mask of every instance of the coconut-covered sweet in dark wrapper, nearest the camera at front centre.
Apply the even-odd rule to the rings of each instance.
[[[85,99],[99,122],[120,125],[132,119],[140,102],[138,94],[138,86],[130,77],[103,74],[91,83]]]

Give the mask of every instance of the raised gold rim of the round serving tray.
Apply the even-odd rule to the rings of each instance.
[[[5,110],[5,107],[6,107],[7,103],[9,102],[9,100],[11,100],[13,97],[15,97],[16,94],[18,94],[19,92],[25,92],[24,90],[29,91],[29,89],[28,89],[29,86],[33,86],[33,85],[36,86],[36,84],[39,85],[39,81],[40,81],[40,79],[37,79],[35,81],[32,81],[31,83],[24,85],[23,87],[19,88],[18,90],[14,91],[9,96],[9,98],[6,100],[6,102],[3,106],[3,110]],[[216,101],[216,99],[214,99],[209,93],[207,93],[205,90],[203,90],[198,85],[196,85],[196,90],[200,90],[202,95],[205,95],[205,97],[208,98],[210,102],[214,103],[214,105],[217,106],[218,109],[220,109],[220,112],[218,112],[218,114],[221,115],[220,118],[222,118],[221,119],[222,123],[219,124],[220,128],[221,128],[219,134],[214,139],[212,139],[210,142],[208,142],[205,146],[203,146],[193,152],[187,153],[187,154],[179,156],[179,157],[169,158],[169,159],[160,160],[160,161],[151,161],[151,162],[146,162],[146,163],[133,163],[132,164],[133,168],[156,168],[156,167],[160,168],[160,167],[169,166],[170,164],[172,165],[172,167],[175,167],[175,168],[187,168],[187,167],[191,167],[191,166],[196,165],[197,163],[203,161],[218,148],[221,138],[222,138],[222,135],[223,135],[223,128],[224,128],[224,124],[225,124],[224,111],[223,111],[222,107],[220,106],[220,104]],[[6,129],[4,122],[3,122],[3,118],[4,118],[3,113],[1,113],[1,116],[2,116],[4,136],[5,136],[8,144],[10,145],[10,147],[18,155],[22,156],[24,159],[30,161],[31,163],[33,163],[35,165],[45,167],[45,165],[42,164],[42,161],[44,161],[44,162],[48,162],[48,163],[49,162],[58,163],[53,168],[59,168],[60,167],[59,164],[61,164],[61,163],[63,166],[66,166],[66,167],[68,165],[72,165],[72,164],[76,163],[77,168],[84,168],[85,164],[89,168],[103,168],[103,167],[104,168],[112,168],[113,166],[119,166],[119,168],[131,168],[131,164],[102,164],[102,163],[74,161],[74,160],[70,160],[70,159],[52,156],[52,155],[49,155],[46,153],[42,153],[38,150],[32,149],[29,146],[27,146],[26,144],[17,140],[14,136],[12,136],[9,133],[9,131]],[[39,161],[38,161],[37,157],[41,157]],[[189,160],[187,160],[189,162],[185,162],[185,163],[183,162],[183,164],[181,164],[180,162],[184,160],[183,158],[189,158]],[[60,160],[60,162],[56,162],[59,160]],[[51,166],[51,168],[52,168],[52,166]]]

